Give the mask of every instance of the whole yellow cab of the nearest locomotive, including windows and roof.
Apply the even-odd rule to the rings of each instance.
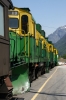
[[[9,10],[9,30],[21,36],[35,35],[35,20],[29,8],[17,8]],[[30,27],[31,26],[31,27]]]

